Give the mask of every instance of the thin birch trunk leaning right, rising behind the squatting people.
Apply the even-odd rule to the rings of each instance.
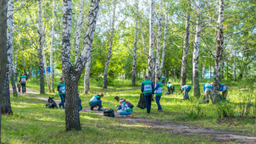
[[[113,37],[114,37],[115,7],[116,7],[116,0],[114,0],[114,9],[113,9],[112,26],[111,26],[111,37],[110,37],[110,42],[109,42],[109,53],[108,53],[107,62],[104,67],[103,88],[108,87],[109,62],[110,62],[110,58],[111,58],[112,47],[113,47]]]

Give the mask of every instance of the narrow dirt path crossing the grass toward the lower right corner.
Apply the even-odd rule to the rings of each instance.
[[[30,94],[39,94],[39,91],[31,91],[27,90],[27,93]],[[27,94],[24,94],[26,97],[31,97]],[[35,97],[39,100],[47,102],[47,97]],[[59,100],[55,100],[55,102],[60,102]],[[103,115],[103,112],[98,112],[96,110],[92,111],[90,108],[83,108],[82,111],[95,113],[99,115]],[[252,136],[242,136],[236,134],[235,132],[226,131],[226,130],[213,130],[207,129],[203,127],[194,127],[187,125],[178,125],[175,123],[164,123],[161,120],[154,119],[143,119],[143,118],[125,118],[120,116],[119,114],[115,114],[114,119],[125,122],[128,125],[147,125],[155,130],[164,131],[167,133],[175,134],[175,135],[188,135],[188,134],[199,134],[203,136],[212,136],[214,141],[222,141],[222,142],[238,142],[238,143],[256,143],[256,137]]]

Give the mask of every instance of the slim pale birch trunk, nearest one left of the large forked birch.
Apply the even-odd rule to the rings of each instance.
[[[53,38],[54,38],[54,25],[55,25],[55,0],[53,0],[53,27],[51,37],[51,53],[50,53],[50,69],[51,69],[51,83],[52,91],[54,92],[54,75],[53,75]]]

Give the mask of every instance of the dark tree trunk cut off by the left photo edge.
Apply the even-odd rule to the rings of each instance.
[[[0,0],[0,108],[2,108],[3,101],[3,88],[6,74],[6,63],[7,63],[7,0]],[[1,109],[0,109],[1,111]],[[1,143],[1,119],[2,114],[0,113],[0,143]]]

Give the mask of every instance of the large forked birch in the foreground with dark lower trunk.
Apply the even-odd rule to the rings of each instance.
[[[62,70],[66,82],[65,122],[66,130],[81,130],[78,109],[78,82],[86,66],[92,50],[93,33],[95,31],[98,4],[100,0],[92,0],[87,20],[86,34],[80,57],[73,66],[70,60],[70,33],[72,24],[72,0],[64,0],[63,37],[62,37]]]

